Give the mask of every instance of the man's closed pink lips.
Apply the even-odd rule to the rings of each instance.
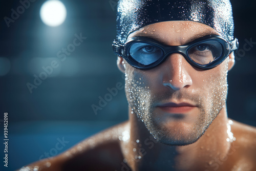
[[[173,113],[173,114],[182,114],[182,113],[187,113],[193,109],[195,109],[197,106],[190,104],[190,103],[164,103],[164,104],[160,104],[158,105],[158,108],[160,108],[161,110],[163,110],[164,112],[167,113]]]

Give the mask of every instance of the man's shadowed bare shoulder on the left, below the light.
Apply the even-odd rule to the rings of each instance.
[[[120,136],[127,121],[89,137],[68,151],[23,167],[27,170],[120,170],[123,156]],[[22,170],[22,169],[20,169]]]

